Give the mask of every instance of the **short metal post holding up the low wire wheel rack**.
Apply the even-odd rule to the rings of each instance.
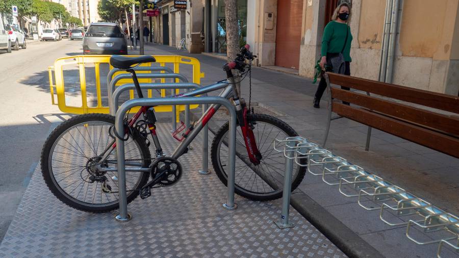
[[[290,208],[290,195],[292,194],[292,172],[293,172],[293,157],[296,146],[296,141],[287,141],[285,145],[285,177],[284,177],[284,191],[282,193],[282,213],[281,219],[274,221],[278,228],[284,229],[294,227],[289,223],[289,208]]]

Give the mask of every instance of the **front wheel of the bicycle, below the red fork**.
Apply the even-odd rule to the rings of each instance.
[[[282,197],[284,188],[285,157],[273,149],[274,139],[298,136],[288,124],[264,114],[249,114],[247,121],[252,125],[257,147],[262,154],[259,165],[250,162],[241,128],[236,133],[235,192],[251,200],[267,201]],[[211,148],[212,165],[221,182],[227,186],[228,123],[225,123],[214,137]],[[292,191],[304,177],[305,168],[294,164]]]

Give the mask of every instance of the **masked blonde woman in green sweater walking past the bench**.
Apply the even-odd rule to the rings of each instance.
[[[347,3],[340,4],[333,14],[333,18],[325,26],[322,37],[322,49],[320,51],[320,67],[322,70],[332,71],[350,75],[350,46],[352,35],[346,21],[351,15],[350,7]],[[320,98],[325,91],[327,84],[323,75],[321,76],[319,87],[314,97],[314,108],[320,108]],[[349,88],[341,87],[349,90]],[[345,103],[348,105],[348,103]]]

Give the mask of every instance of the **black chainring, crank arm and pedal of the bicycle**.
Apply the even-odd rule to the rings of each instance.
[[[170,157],[160,157],[151,164],[151,181],[140,189],[140,198],[145,199],[151,195],[151,188],[155,185],[171,186],[182,177],[182,165]]]

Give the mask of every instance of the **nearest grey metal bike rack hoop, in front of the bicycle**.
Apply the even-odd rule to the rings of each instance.
[[[223,208],[227,210],[235,210],[237,204],[234,202],[234,179],[235,179],[235,160],[236,160],[236,111],[231,102],[223,97],[180,97],[180,98],[138,98],[130,99],[124,102],[115,115],[115,130],[123,132],[123,118],[127,111],[133,107],[142,106],[160,106],[160,105],[191,105],[191,104],[219,104],[225,106],[230,113],[230,144],[228,146],[228,164],[230,171],[228,172],[228,195],[227,201],[223,204]],[[124,135],[124,134],[122,134]],[[124,141],[116,137],[116,151],[118,159],[118,195],[119,195],[119,214],[115,219],[119,222],[125,222],[132,219],[132,216],[127,213],[126,200],[126,172],[124,165]]]

